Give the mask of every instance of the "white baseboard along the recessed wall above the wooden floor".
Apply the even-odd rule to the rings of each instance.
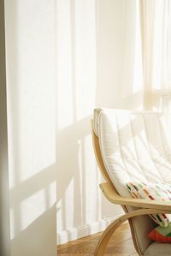
[[[104,229],[106,229],[109,223],[114,221],[117,217],[121,217],[121,214],[115,215],[115,217],[109,217],[109,218],[97,221],[95,223],[90,223],[74,229],[62,231],[57,234],[57,245],[61,245],[68,241],[74,241],[86,235],[92,235],[92,234],[101,232]]]

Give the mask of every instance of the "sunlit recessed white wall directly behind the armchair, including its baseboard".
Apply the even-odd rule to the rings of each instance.
[[[121,207],[103,198],[91,146],[95,107],[141,109],[139,5],[134,0],[58,0],[58,242],[100,231]]]

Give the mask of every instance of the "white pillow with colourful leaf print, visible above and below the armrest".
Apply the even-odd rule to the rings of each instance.
[[[127,188],[134,198],[157,201],[171,200],[171,184],[168,183],[128,182]],[[151,214],[150,217],[162,227],[168,227],[168,223],[171,222],[171,214]]]

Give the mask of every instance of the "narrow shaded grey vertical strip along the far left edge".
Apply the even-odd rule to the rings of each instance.
[[[0,1],[0,255],[10,255],[4,1]]]

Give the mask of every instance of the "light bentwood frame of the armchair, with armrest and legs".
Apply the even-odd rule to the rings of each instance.
[[[91,120],[91,135],[94,152],[97,159],[97,164],[105,180],[105,182],[101,183],[99,187],[101,188],[106,199],[108,199],[111,203],[115,205],[121,205],[123,211],[125,212],[123,216],[115,219],[115,221],[113,223],[110,223],[108,228],[104,230],[103,235],[100,237],[97,243],[94,255],[104,255],[110,237],[115,233],[115,230],[118,227],[120,227],[122,223],[128,220],[133,236],[134,247],[137,253],[139,253],[139,256],[143,256],[139,248],[138,238],[133,230],[133,217],[149,215],[154,213],[171,213],[171,205],[169,202],[148,201],[146,199],[133,199],[121,197],[119,193],[117,193],[114,184],[111,182],[108,175],[108,171],[106,170],[105,165],[103,163],[103,158],[99,146],[99,140],[97,135],[94,133],[93,120]],[[133,206],[137,210],[128,211],[128,206]]]

